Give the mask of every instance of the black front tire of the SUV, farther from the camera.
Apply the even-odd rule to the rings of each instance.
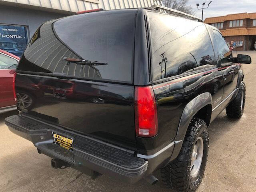
[[[242,95],[244,95],[242,97]],[[236,97],[226,106],[226,114],[230,118],[240,118],[244,114],[246,89],[244,82],[241,82]],[[242,101],[243,98],[243,101]],[[243,103],[242,103],[243,102]],[[241,107],[242,105],[242,107]]]

